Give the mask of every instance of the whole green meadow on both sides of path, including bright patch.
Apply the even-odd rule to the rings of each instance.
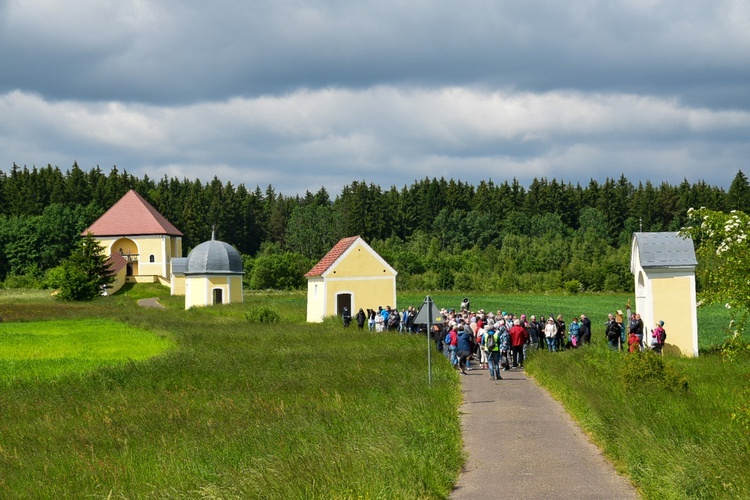
[[[0,498],[450,495],[460,380],[433,356],[428,385],[424,336],[307,324],[297,292],[190,311],[168,293],[136,285],[67,304],[0,290]],[[153,296],[166,309],[137,306]],[[463,296],[432,298],[458,308]],[[625,295],[469,297],[592,318],[592,346],[535,352],[527,369],[644,498],[750,497],[750,361],[713,347],[726,310],[699,309],[703,355],[664,357],[660,371],[606,348],[603,322]],[[248,321],[262,309],[280,321]],[[633,383],[639,373],[651,379]]]

